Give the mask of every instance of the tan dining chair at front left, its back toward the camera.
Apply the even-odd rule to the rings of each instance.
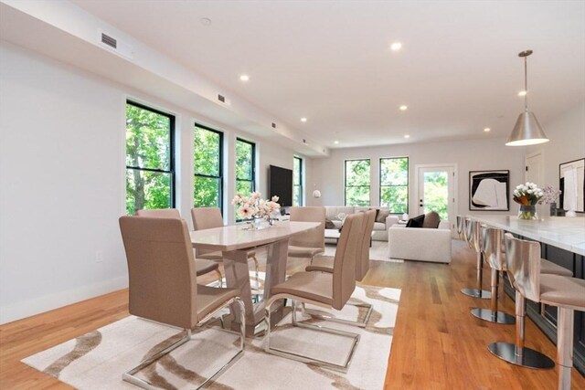
[[[147,379],[136,374],[178,346],[189,342],[192,330],[205,324],[218,311],[229,304],[238,304],[241,321],[239,347],[237,346],[237,352],[227,363],[198,384],[197,389],[207,385],[235,363],[244,352],[246,319],[239,290],[197,284],[193,249],[185,220],[122,216],[119,222],[128,263],[130,313],[181,328],[184,333],[176,343],[154,353],[122,374],[122,379],[146,389],[154,388]],[[195,350],[193,353],[201,352]]]

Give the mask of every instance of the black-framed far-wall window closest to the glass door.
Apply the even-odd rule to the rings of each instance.
[[[409,212],[409,158],[380,159],[380,206],[390,213]]]

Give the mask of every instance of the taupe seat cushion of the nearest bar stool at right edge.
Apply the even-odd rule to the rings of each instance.
[[[585,279],[540,274],[540,301],[582,311],[585,309]]]

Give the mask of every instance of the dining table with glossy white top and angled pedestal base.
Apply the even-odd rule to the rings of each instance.
[[[249,224],[237,224],[226,227],[195,230],[190,232],[193,248],[220,250],[226,284],[238,289],[244,303],[246,334],[259,335],[263,332],[264,301],[270,298],[271,287],[282,283],[286,278],[289,238],[297,233],[314,229],[318,222],[277,221],[261,230],[251,229]],[[266,273],[261,300],[252,300],[250,286],[250,269],[248,251],[266,248]],[[282,303],[271,313],[271,323],[282,318]],[[239,329],[239,307],[230,306],[232,315],[231,328]]]

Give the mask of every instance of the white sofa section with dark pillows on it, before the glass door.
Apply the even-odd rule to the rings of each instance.
[[[405,227],[388,229],[388,258],[451,263],[451,228],[449,221],[439,227]]]

